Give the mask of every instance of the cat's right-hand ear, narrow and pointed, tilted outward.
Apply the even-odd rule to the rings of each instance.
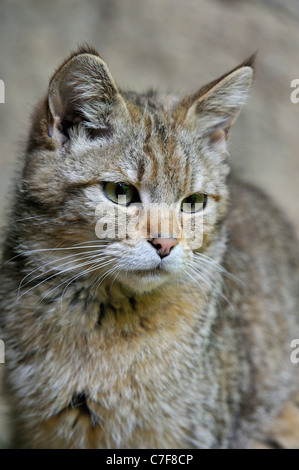
[[[201,88],[183,102],[183,124],[195,129],[199,137],[209,137],[210,144],[220,152],[226,151],[229,129],[244,104],[253,79],[255,55]]]

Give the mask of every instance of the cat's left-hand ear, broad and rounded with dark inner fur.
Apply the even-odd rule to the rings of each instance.
[[[61,145],[82,124],[87,134],[107,137],[114,116],[127,108],[105,62],[96,51],[84,48],[54,73],[48,92],[48,133]]]

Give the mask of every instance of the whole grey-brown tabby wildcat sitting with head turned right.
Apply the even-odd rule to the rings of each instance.
[[[13,446],[246,448],[298,390],[297,242],[230,172],[252,77],[123,92],[89,47],[54,73],[1,274]]]

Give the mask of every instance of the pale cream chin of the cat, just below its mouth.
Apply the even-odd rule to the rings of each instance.
[[[118,281],[131,291],[142,294],[157,289],[165,283],[171,282],[172,278],[173,276],[169,272],[158,269],[149,269],[120,273]]]

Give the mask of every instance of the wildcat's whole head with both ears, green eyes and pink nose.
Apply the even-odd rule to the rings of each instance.
[[[31,256],[139,292],[194,276],[219,240],[252,62],[179,99],[120,91],[90,48],[68,58],[33,117],[19,190]]]

